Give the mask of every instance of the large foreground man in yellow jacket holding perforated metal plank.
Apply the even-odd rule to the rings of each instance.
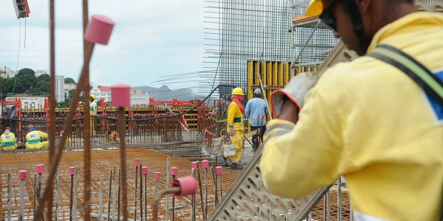
[[[359,55],[395,47],[441,84],[443,14],[417,12],[413,0],[311,0],[306,15],[318,14]],[[264,185],[295,198],[344,175],[357,221],[441,220],[443,106],[373,54],[330,67],[316,84],[299,74],[272,95],[278,119],[264,136]]]

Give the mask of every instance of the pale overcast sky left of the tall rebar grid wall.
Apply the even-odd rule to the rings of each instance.
[[[49,1],[28,0],[31,11],[16,19],[12,0],[1,0],[0,65],[12,70],[49,70]],[[201,71],[203,60],[203,0],[89,0],[89,15],[116,22],[107,46],[96,46],[90,81],[100,85],[161,85],[158,76]],[[20,51],[19,34],[21,33]],[[55,2],[55,73],[78,80],[82,66],[82,1]],[[197,82],[168,84],[170,88]]]

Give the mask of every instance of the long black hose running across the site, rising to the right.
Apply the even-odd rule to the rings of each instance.
[[[170,115],[170,116],[160,116],[160,117],[155,117],[155,118],[146,118],[146,119],[124,119],[124,121],[126,121],[126,122],[139,122],[139,121],[152,121],[152,120],[155,120],[155,119],[162,119],[162,118],[175,118],[175,117],[178,117],[178,116],[181,116],[181,115],[183,115],[183,114],[187,114],[187,113],[189,113],[189,112],[191,112],[192,110],[195,110],[195,109],[197,109],[197,107],[200,107],[201,105],[202,105],[202,103],[203,102],[205,102],[206,101],[206,99],[208,99],[218,88],[220,88],[220,87],[230,87],[230,88],[236,88],[235,86],[233,86],[233,85],[228,85],[228,84],[220,84],[220,85],[218,85],[217,87],[215,87],[210,93],[209,93],[209,95],[207,95],[206,96],[206,98],[205,99],[203,99],[202,101],[200,101],[200,103],[198,103],[197,104],[197,106],[195,106],[195,107],[193,107],[193,108],[191,108],[190,110],[187,110],[187,111],[185,111],[185,112],[183,112],[183,113],[181,113],[181,114],[175,114],[175,115]],[[81,119],[83,119],[84,117],[81,117],[81,118],[74,118],[74,119],[72,119],[73,121],[76,121],[76,120],[81,120]],[[118,120],[118,118],[109,118],[109,117],[104,117],[104,116],[99,116],[99,115],[91,115],[91,118],[103,118],[103,119],[108,119],[108,120]],[[9,121],[18,121],[18,122],[27,122],[27,123],[49,123],[49,121],[31,121],[31,120],[21,120],[21,119],[15,119],[15,118],[0,118],[0,121],[2,121],[2,120],[9,120]],[[57,122],[57,123],[61,123],[61,122],[65,122],[66,120],[58,120],[58,121],[55,121],[55,122]]]

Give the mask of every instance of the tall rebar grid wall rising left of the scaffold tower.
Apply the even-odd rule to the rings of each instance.
[[[210,84],[233,84],[246,94],[248,60],[290,61],[291,8],[288,0],[206,1],[204,68],[216,70]],[[212,81],[212,82],[211,82]],[[202,90],[211,88],[202,82]],[[231,93],[221,88],[220,98]]]

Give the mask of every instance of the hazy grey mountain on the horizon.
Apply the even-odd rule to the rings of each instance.
[[[160,88],[153,88],[149,86],[134,87],[141,91],[145,91],[149,94],[149,97],[154,98],[154,100],[172,100],[177,98],[179,100],[193,100],[198,97],[198,94],[190,89],[177,89],[171,90],[166,85]]]

